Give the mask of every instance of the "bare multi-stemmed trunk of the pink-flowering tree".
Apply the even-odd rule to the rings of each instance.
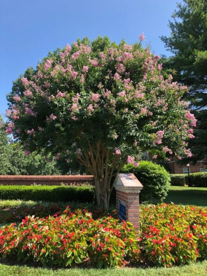
[[[108,209],[113,188],[111,180],[123,166],[123,162],[120,163],[120,156],[111,153],[99,142],[93,146],[89,144],[89,151],[78,155],[78,160],[94,176],[97,205]]]

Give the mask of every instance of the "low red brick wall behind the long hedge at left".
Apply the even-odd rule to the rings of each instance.
[[[94,184],[93,176],[0,176],[0,185]]]

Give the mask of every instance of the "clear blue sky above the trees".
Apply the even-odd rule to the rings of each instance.
[[[181,1],[181,0],[177,0]],[[176,0],[0,0],[0,114],[12,81],[27,67],[57,47],[77,38],[107,35],[134,43],[144,32],[156,54],[170,55],[159,36],[167,26]]]

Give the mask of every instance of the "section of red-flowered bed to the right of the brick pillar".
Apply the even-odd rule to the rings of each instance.
[[[155,265],[207,259],[207,209],[174,204],[142,207],[142,250]]]

